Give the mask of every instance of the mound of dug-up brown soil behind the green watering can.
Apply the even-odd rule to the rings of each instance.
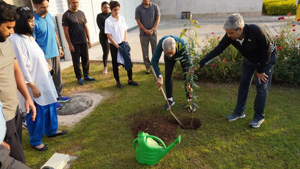
[[[132,133],[135,137],[141,131],[154,135],[160,138],[163,142],[168,142],[177,138],[175,129],[178,124],[169,119],[165,119],[159,116],[153,116],[146,119],[136,120],[133,127]]]

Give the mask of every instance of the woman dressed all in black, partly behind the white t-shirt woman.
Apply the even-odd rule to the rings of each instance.
[[[103,60],[103,74],[107,74],[107,57],[108,57],[108,53],[109,53],[109,44],[108,44],[108,40],[107,40],[107,36],[104,33],[104,25],[105,25],[105,19],[110,16],[111,12],[109,12],[109,6],[108,6],[108,2],[103,1],[101,3],[101,10],[102,13],[99,13],[97,15],[97,25],[100,29],[99,32],[99,41],[100,44],[102,46],[102,50],[103,50],[103,56],[102,56],[102,60]]]

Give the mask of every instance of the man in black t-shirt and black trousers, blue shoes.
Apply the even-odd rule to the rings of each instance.
[[[62,15],[62,27],[72,55],[76,78],[78,83],[83,85],[84,82],[81,78],[82,75],[79,64],[80,57],[84,80],[95,80],[89,76],[88,48],[91,47],[90,37],[85,15],[82,11],[78,10],[79,0],[69,0],[69,5],[70,8]]]

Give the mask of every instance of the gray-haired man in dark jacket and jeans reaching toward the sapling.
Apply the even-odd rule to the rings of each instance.
[[[254,102],[254,117],[249,122],[252,127],[259,127],[264,121],[264,107],[267,92],[271,84],[272,70],[276,60],[274,41],[265,30],[255,24],[244,24],[239,13],[230,14],[225,18],[223,28],[226,33],[219,44],[198,63],[203,67],[224,49],[232,44],[244,56],[241,79],[238,87],[237,102],[232,114],[227,120],[245,117],[244,110],[249,87],[256,70],[256,97]]]

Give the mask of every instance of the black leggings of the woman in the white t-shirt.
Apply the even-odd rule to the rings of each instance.
[[[119,43],[121,44],[121,43]],[[120,77],[118,74],[118,63],[117,63],[117,48],[109,43],[110,46],[110,55],[111,55],[111,63],[112,63],[112,72],[116,82],[120,81]],[[128,80],[132,80],[132,68],[127,70]]]

